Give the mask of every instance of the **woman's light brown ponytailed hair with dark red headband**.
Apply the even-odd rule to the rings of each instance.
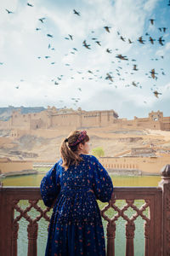
[[[78,144],[89,141],[89,137],[86,131],[71,131],[69,136],[64,139],[60,145],[60,154],[63,160],[62,166],[65,168],[65,171],[71,165],[78,165],[80,161],[82,161],[82,157],[78,154]]]

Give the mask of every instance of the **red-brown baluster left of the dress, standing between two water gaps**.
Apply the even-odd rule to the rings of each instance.
[[[27,256],[37,256],[37,222],[28,224],[28,253]]]

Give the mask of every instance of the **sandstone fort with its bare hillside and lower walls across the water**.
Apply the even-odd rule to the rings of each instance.
[[[8,119],[0,120],[0,173],[28,173],[35,171],[34,162],[54,163],[61,139],[76,129],[88,129],[93,147],[104,148],[105,157],[99,160],[109,172],[157,175],[169,162],[170,117],[159,110],[148,118],[129,120],[119,119],[113,109],[48,107],[37,113],[13,110]]]

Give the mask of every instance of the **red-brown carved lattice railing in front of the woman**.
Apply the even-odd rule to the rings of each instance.
[[[18,203],[22,200],[29,206],[22,209]],[[116,201],[126,201],[123,207],[117,207]],[[144,204],[137,207],[136,200]],[[28,222],[27,256],[37,256],[38,221],[50,220],[50,208],[37,205],[41,201],[40,189],[36,187],[3,187],[0,186],[0,255],[17,256],[17,239],[20,218]],[[34,208],[39,215],[31,218],[29,212]],[[135,212],[128,217],[127,209]],[[114,210],[112,218],[107,211]],[[148,214],[144,211],[148,210]],[[14,216],[14,212],[18,212]],[[123,218],[126,221],[126,256],[134,255],[133,238],[135,220],[144,220],[144,256],[170,256],[170,165],[161,170],[161,182],[158,187],[115,187],[111,201],[101,210],[101,216],[107,222],[107,256],[115,256],[116,221]],[[138,256],[138,255],[135,255]]]

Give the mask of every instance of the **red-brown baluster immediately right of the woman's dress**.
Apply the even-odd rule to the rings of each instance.
[[[116,223],[107,224],[107,256],[115,256]]]

